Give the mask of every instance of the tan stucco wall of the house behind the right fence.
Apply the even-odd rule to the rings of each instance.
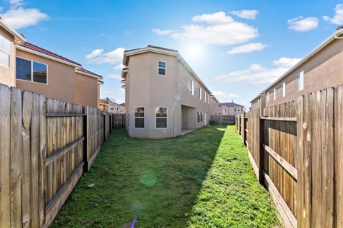
[[[332,41],[319,53],[309,58],[289,75],[266,91],[269,93],[269,102],[266,106],[296,100],[299,95],[304,95],[324,88],[337,86],[343,83],[343,41]],[[304,71],[304,90],[297,90],[297,74]],[[286,83],[286,96],[282,98],[282,83]],[[277,99],[274,99],[273,89],[277,89]]]

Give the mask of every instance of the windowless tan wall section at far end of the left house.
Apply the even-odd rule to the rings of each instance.
[[[75,103],[98,107],[98,79],[75,73]]]

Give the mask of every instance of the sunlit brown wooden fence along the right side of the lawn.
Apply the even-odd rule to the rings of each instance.
[[[343,85],[260,113],[247,113],[241,126],[286,227],[343,227]]]

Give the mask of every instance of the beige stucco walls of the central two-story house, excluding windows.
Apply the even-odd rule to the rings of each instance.
[[[158,61],[166,61],[166,76],[158,75]],[[209,103],[208,100],[204,102],[204,94],[202,100],[199,100],[200,83],[174,56],[151,52],[130,56],[128,68],[125,103],[126,123],[128,123],[126,130],[129,136],[136,138],[177,136],[181,134],[185,117],[188,118],[187,128],[202,127],[204,123],[197,123],[198,110],[207,113],[208,123]],[[194,95],[190,90],[192,78]],[[204,91],[203,88],[203,93]],[[209,91],[206,93],[209,95]],[[189,109],[182,109],[183,105],[189,106]],[[144,107],[145,128],[134,128],[134,107]],[[167,128],[156,128],[156,107],[168,108]]]

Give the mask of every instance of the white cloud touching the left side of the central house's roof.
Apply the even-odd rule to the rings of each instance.
[[[118,64],[123,58],[124,48],[116,48],[114,51],[103,53],[103,49],[95,49],[84,56],[89,63],[96,64]]]

